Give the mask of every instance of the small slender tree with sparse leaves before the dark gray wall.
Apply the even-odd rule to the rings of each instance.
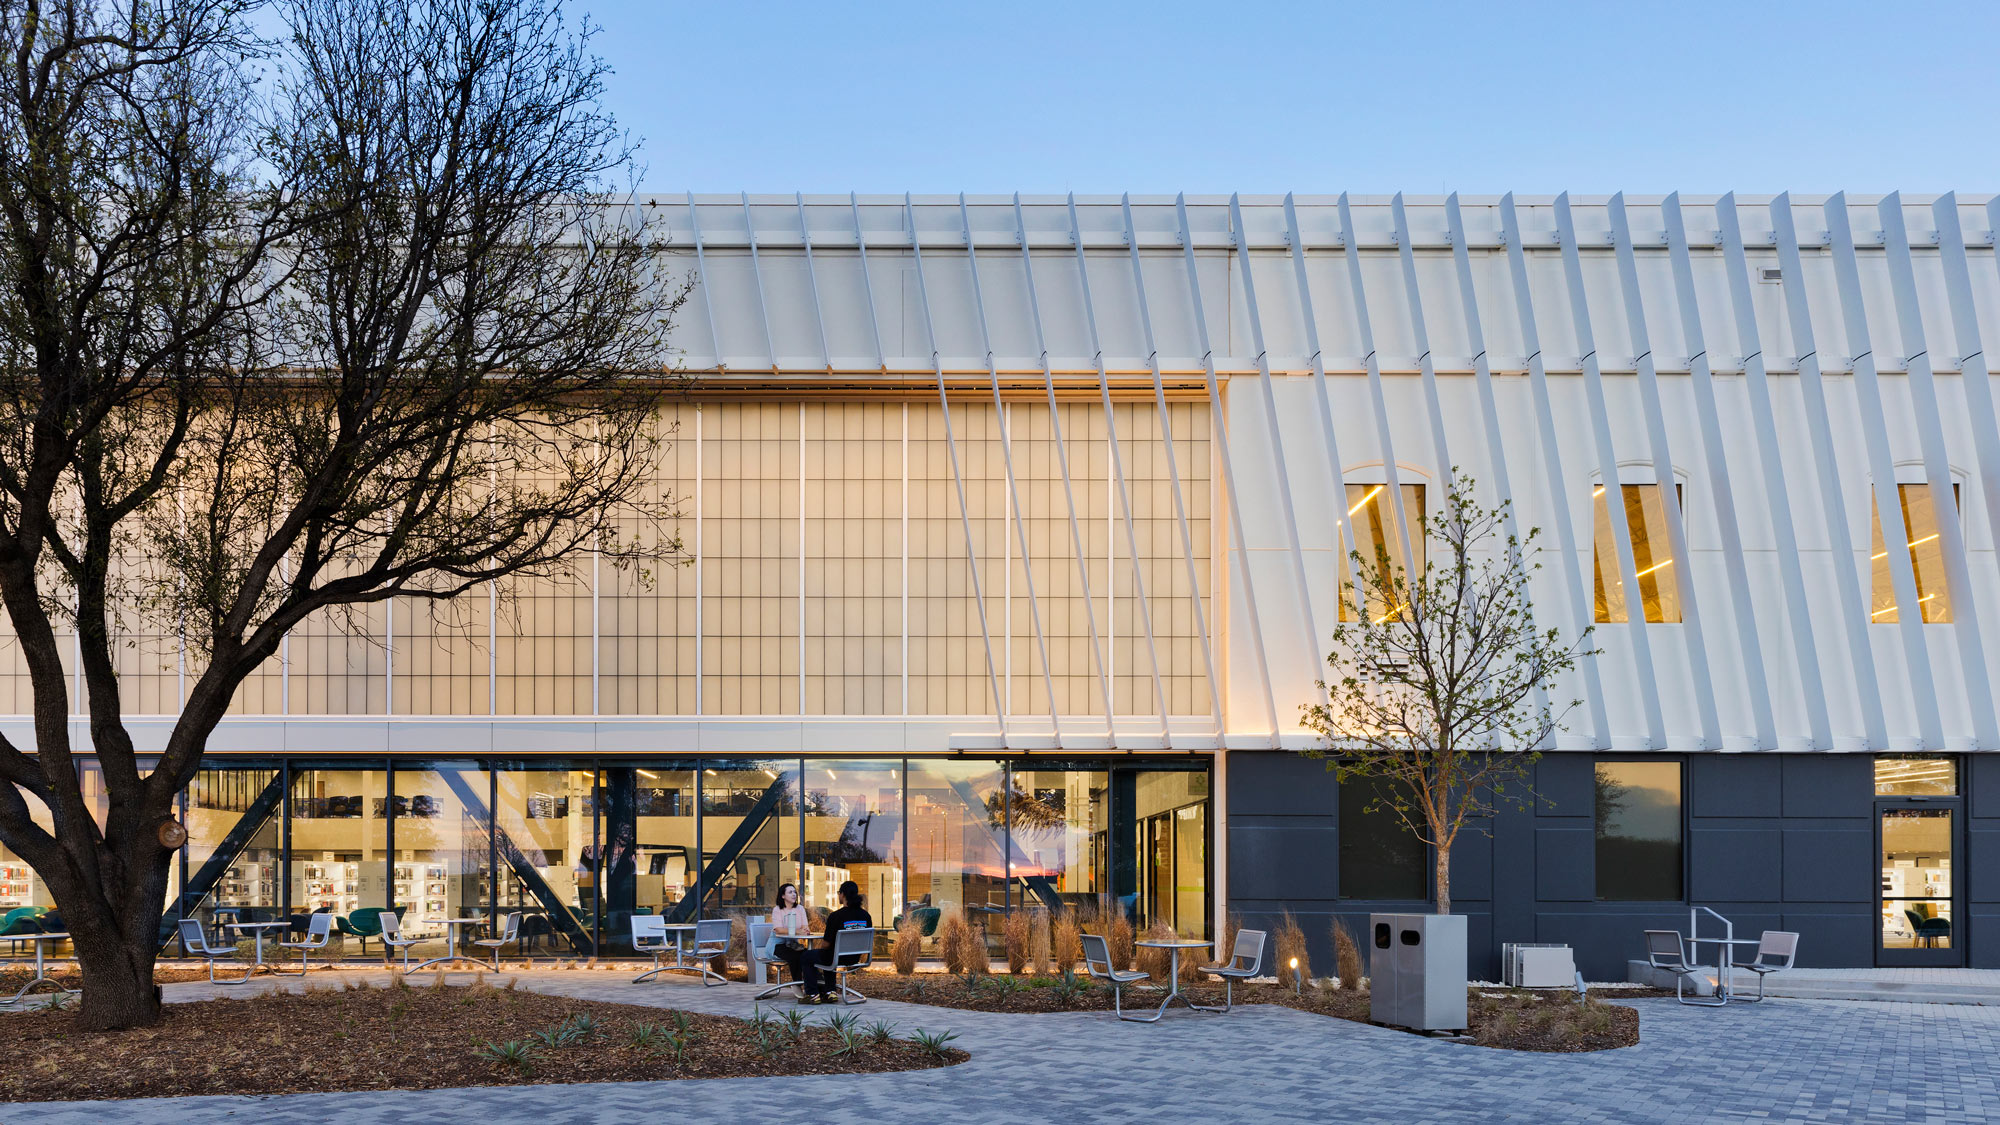
[[[1370,811],[1394,813],[1430,845],[1440,915],[1452,913],[1458,833],[1534,799],[1540,747],[1580,703],[1548,701],[1590,631],[1564,643],[1536,629],[1528,581],[1540,528],[1520,538],[1508,526],[1508,500],[1480,506],[1472,478],[1454,474],[1444,506],[1410,526],[1428,544],[1422,573],[1380,546],[1352,552],[1358,613],[1334,629],[1328,701],[1302,709],[1324,741],[1310,755],[1342,785],[1374,779]]]

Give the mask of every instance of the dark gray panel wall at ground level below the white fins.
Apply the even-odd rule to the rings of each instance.
[[[1736,923],[1802,935],[1800,965],[1872,965],[1876,949],[1874,765],[1868,755],[1646,755],[1684,763],[1684,903],[1596,901],[1594,767],[1638,755],[1548,755],[1534,809],[1466,829],[1452,853],[1452,907],[1468,915],[1472,973],[1498,977],[1500,943],[1562,941],[1590,979],[1620,979],[1642,931],[1686,929],[1688,903]],[[2000,755],[1966,759],[1968,963],[2000,967]],[[1370,911],[1416,903],[1340,899],[1338,791],[1322,763],[1230,755],[1230,901],[1246,925],[1290,909],[1314,973],[1332,971],[1328,925],[1364,931]],[[1706,925],[1704,925],[1706,933]]]

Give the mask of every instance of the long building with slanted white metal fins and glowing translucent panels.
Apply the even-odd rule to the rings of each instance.
[[[370,877],[390,905],[428,875],[398,847],[414,829],[392,835],[422,789],[392,775],[418,761],[474,763],[418,773],[478,773],[438,799],[484,787],[496,819],[516,773],[566,779],[522,783],[484,875],[452,861],[488,881],[464,903],[498,909],[508,847],[548,837],[544,889],[514,893],[574,907],[556,937],[604,941],[606,909],[708,911],[724,877],[736,905],[780,873],[824,881],[872,815],[900,825],[870,883],[894,913],[1094,897],[1200,935],[1408,909],[1422,847],[1384,843],[1366,795],[1294,751],[1342,558],[1422,556],[1408,528],[1458,474],[1538,528],[1538,623],[1600,649],[1562,685],[1584,703],[1538,767],[1544,807],[1454,855],[1476,971],[1500,941],[1572,941],[1606,971],[1688,905],[1796,929],[1808,963],[2000,965],[2000,198],[638,210],[662,284],[692,284],[660,480],[690,565],[296,635],[216,739],[278,807],[218,807],[186,909],[244,875],[202,881],[224,813],[252,809],[276,817],[270,907],[328,883],[300,853],[358,855],[340,905]],[[128,683],[172,713],[174,639],[138,649]],[[882,771],[854,815],[834,811],[846,763]],[[680,771],[688,817],[732,819],[656,869],[644,823],[670,801],[626,779],[640,811],[620,813],[626,765]],[[728,805],[770,795],[698,779],[752,767],[794,777],[798,829],[720,855],[766,831]],[[334,789],[362,821],[380,805],[382,839],[292,843],[326,801],[300,777],[376,769]],[[952,775],[932,805],[920,801],[920,771]],[[894,815],[870,805],[890,789]],[[558,791],[588,795],[568,813],[588,831],[526,813]],[[620,815],[660,889],[606,867]],[[924,875],[926,847],[952,851],[924,817],[958,875]],[[768,857],[756,891],[744,849]]]

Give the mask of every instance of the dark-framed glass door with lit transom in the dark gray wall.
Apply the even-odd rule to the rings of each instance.
[[[1958,763],[1876,759],[1876,965],[1964,965]]]

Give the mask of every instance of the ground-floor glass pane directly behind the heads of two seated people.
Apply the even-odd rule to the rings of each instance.
[[[902,903],[902,761],[806,759],[806,849],[800,901],[840,909],[840,883],[860,885],[888,925]]]

